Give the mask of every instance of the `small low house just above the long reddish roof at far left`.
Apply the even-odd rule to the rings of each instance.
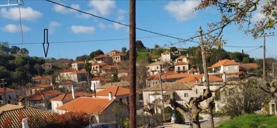
[[[43,90],[52,90],[54,88],[52,83],[48,83],[48,84],[38,84],[35,85],[32,88],[29,88],[26,90],[26,96],[35,94],[38,91],[43,91]]]

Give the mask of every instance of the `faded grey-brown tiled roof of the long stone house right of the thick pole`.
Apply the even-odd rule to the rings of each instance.
[[[163,88],[163,91],[191,90],[190,84],[184,83],[184,82],[162,83],[162,88]],[[160,85],[155,85],[153,87],[146,88],[143,91],[161,91],[161,86]]]

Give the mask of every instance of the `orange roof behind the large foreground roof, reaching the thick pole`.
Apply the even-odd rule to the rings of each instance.
[[[96,92],[96,96],[109,96],[109,92],[112,92],[113,96],[129,95],[130,94],[130,89],[129,88],[118,87],[118,86],[113,86],[113,87],[106,88],[102,91]]]

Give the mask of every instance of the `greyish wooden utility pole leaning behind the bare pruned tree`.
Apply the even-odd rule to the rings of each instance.
[[[206,62],[206,54],[205,54],[205,44],[203,40],[203,34],[202,34],[202,28],[199,27],[199,38],[200,38],[200,47],[201,47],[201,54],[202,54],[202,61],[203,61],[203,68],[204,68],[204,77],[205,77],[205,87],[206,91],[210,92],[210,82],[209,82],[209,76],[208,76],[208,68],[207,68],[207,62]],[[204,92],[205,93],[205,92]],[[210,124],[211,127],[214,128],[214,118],[213,118],[213,102],[209,104],[209,117],[210,117]]]

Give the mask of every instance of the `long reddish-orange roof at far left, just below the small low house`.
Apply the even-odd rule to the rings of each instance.
[[[40,100],[45,97],[51,97],[59,94],[62,94],[62,92],[58,90],[49,90],[49,91],[38,92],[36,94],[30,95],[26,97],[26,100]]]

